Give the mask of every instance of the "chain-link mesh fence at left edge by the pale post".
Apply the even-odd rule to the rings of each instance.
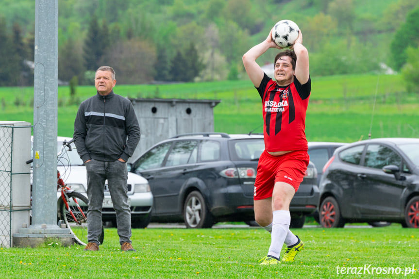
[[[15,129],[31,128],[31,126],[0,125],[0,246],[12,246],[12,213],[17,211],[13,206],[12,180],[17,175],[13,171],[13,133]],[[22,209],[18,209],[21,211]],[[30,210],[30,208],[25,209]]]

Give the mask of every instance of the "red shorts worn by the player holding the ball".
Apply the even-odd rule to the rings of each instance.
[[[292,151],[281,156],[263,151],[257,165],[253,199],[272,197],[273,186],[278,181],[290,184],[297,192],[309,161],[307,151]]]

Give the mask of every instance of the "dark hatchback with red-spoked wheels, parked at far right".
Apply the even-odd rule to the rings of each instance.
[[[335,150],[319,184],[323,227],[396,222],[419,227],[419,139],[378,138]]]

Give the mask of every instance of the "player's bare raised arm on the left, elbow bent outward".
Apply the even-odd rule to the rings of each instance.
[[[256,59],[270,48],[281,49],[272,40],[272,30],[262,43],[252,47],[243,55],[244,68],[255,87],[259,87],[264,76],[262,68],[256,63]]]

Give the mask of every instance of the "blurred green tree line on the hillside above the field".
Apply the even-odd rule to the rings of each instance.
[[[32,85],[34,1],[2,2],[0,86]],[[283,11],[290,2],[300,8]],[[417,0],[397,0],[380,17],[357,14],[358,2],[59,0],[58,77],[92,84],[97,67],[109,65],[119,84],[239,79],[243,53],[286,15],[303,31],[312,76],[377,72],[385,63],[414,79],[419,24],[410,15]],[[302,15],[310,9],[318,12]],[[258,62],[272,63],[272,53]]]

